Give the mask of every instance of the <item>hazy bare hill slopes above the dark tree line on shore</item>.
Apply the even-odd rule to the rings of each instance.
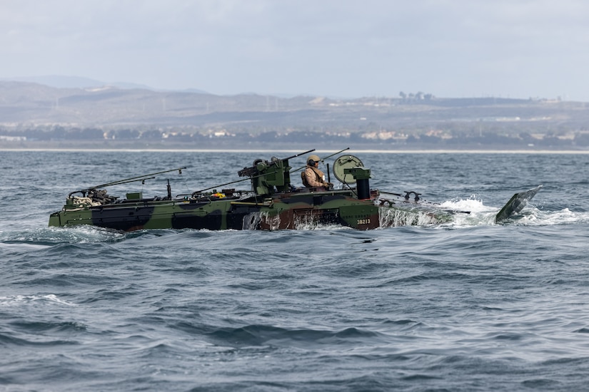
[[[0,81],[0,123],[76,125],[212,125],[261,123],[268,126],[376,122],[383,126],[433,126],[448,121],[550,121],[587,123],[585,103],[505,98],[366,97],[333,100],[255,94],[216,96],[193,91],[143,88],[53,88],[39,83]]]

